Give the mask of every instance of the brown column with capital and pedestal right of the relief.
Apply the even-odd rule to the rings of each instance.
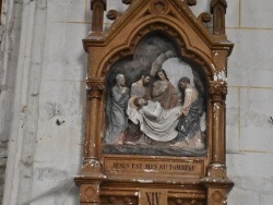
[[[212,104],[212,159],[207,168],[207,177],[202,184],[207,190],[206,204],[225,205],[227,194],[234,182],[226,173],[225,147],[225,100],[227,94],[226,82],[210,82],[210,98]]]

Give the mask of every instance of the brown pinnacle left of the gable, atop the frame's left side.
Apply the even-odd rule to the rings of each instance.
[[[91,10],[92,16],[92,32],[102,33],[104,25],[104,11],[106,11],[106,0],[92,0]]]

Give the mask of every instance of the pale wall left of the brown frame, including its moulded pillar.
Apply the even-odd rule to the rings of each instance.
[[[79,202],[73,177],[82,158],[87,5],[84,0],[10,1],[7,27],[15,34],[4,34],[3,76],[14,73],[5,80],[13,82],[12,97],[1,93],[7,124],[1,134],[9,141],[2,204]]]

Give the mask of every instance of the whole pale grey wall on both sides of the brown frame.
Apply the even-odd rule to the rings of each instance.
[[[210,11],[209,0],[193,12]],[[273,203],[270,0],[228,0],[227,171],[230,205]],[[3,1],[0,178],[3,205],[74,205],[82,160],[90,0]],[[108,0],[107,10],[127,5]],[[104,28],[110,21],[105,19]],[[210,25],[210,24],[209,24]],[[9,152],[7,150],[9,144]],[[8,156],[8,164],[7,164]],[[7,165],[7,168],[5,168]],[[0,180],[2,180],[0,179]],[[3,180],[2,180],[3,181]],[[2,186],[0,186],[0,192]]]

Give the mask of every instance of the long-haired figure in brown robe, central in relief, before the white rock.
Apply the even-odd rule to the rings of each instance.
[[[177,92],[163,69],[155,73],[151,96],[152,100],[158,101],[165,110],[179,105]]]

